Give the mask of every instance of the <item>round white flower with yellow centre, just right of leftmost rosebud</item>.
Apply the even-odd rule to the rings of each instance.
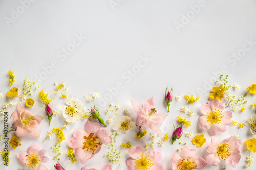
[[[66,100],[67,106],[62,106],[63,117],[67,122],[76,122],[82,118],[84,112],[83,105],[76,98],[70,98]]]

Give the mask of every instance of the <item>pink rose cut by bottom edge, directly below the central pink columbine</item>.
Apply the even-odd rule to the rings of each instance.
[[[134,169],[148,169],[148,170],[163,170],[164,166],[161,161],[162,153],[151,150],[146,152],[143,147],[136,147],[129,149],[130,158],[125,160],[128,170]]]

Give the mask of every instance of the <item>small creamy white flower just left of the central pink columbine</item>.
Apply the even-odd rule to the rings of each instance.
[[[115,121],[113,130],[115,130],[117,134],[120,134],[121,132],[126,133],[129,129],[134,129],[135,123],[130,120],[131,118],[128,116],[122,116],[122,119]]]

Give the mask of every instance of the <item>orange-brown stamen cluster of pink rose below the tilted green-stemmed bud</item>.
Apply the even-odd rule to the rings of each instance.
[[[87,151],[91,150],[94,154],[94,151],[102,144],[100,142],[97,142],[97,139],[99,137],[94,136],[94,133],[90,133],[89,136],[83,136],[85,141],[82,143],[83,147],[82,149],[86,149]]]

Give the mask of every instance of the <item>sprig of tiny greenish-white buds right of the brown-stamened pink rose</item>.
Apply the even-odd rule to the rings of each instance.
[[[121,158],[119,156],[119,154],[121,154],[121,152],[118,152],[117,149],[113,148],[114,147],[114,143],[116,142],[116,136],[117,136],[117,133],[116,134],[112,133],[112,135],[111,135],[112,141],[111,141],[110,144],[108,144],[110,152],[108,152],[108,154],[104,154],[103,155],[103,157],[108,157],[109,161],[111,163],[119,162],[119,158]],[[119,165],[120,165],[120,163],[119,163]]]

